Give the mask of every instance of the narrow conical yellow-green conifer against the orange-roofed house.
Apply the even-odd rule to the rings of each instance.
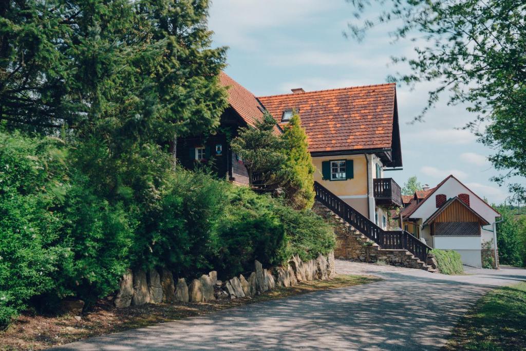
[[[287,202],[296,209],[311,208],[314,204],[314,172],[307,135],[301,127],[301,119],[294,111],[283,134],[285,142],[284,153],[287,155],[283,189]]]

